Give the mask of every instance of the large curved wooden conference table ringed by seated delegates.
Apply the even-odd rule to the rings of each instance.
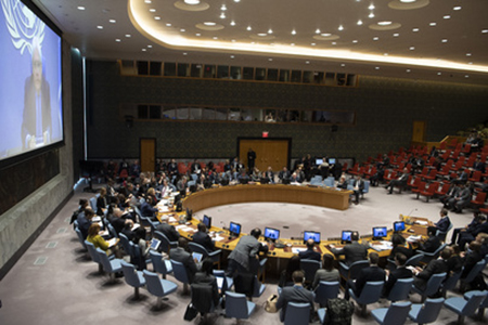
[[[158,218],[164,214],[171,214],[175,218],[170,218],[178,232],[192,239],[193,233],[196,232],[196,225],[200,220],[192,219],[185,224],[179,224],[177,220],[184,214],[185,208],[196,211],[230,204],[239,203],[255,203],[255,202],[275,202],[275,203],[293,203],[304,205],[314,205],[321,207],[328,207],[333,209],[345,210],[349,206],[349,195],[351,191],[338,191],[328,187],[309,187],[309,186],[294,186],[294,185],[259,185],[259,184],[246,184],[246,185],[230,185],[208,188],[205,191],[193,193],[187,196],[183,200],[183,212],[179,212],[176,216],[175,212],[168,211],[159,213]],[[426,218],[421,217],[403,217],[400,214],[400,219],[406,221],[406,231],[402,235],[407,238],[412,235],[421,235],[425,237],[427,234],[427,226],[432,225],[432,222]],[[172,221],[172,222],[171,222]],[[239,221],[239,220],[236,220]],[[420,223],[416,223],[420,222]],[[215,238],[215,246],[219,249],[231,251],[237,245],[240,237],[230,237],[229,231],[211,226],[209,230],[210,236]],[[241,236],[246,235],[241,233]],[[393,230],[388,231],[388,236],[385,240],[388,240],[393,235]],[[370,251],[377,251],[381,257],[387,257],[390,253],[390,249],[382,248],[380,242],[374,242],[372,236],[361,237],[362,242],[368,242],[371,246]],[[266,243],[265,238],[259,239],[261,243]],[[268,258],[275,258],[275,268],[280,269],[280,259],[290,259],[297,253],[297,250],[305,249],[304,242],[299,238],[280,238],[280,243],[284,246],[282,248],[275,247],[274,243],[266,243],[269,246]],[[323,255],[331,252],[331,248],[341,248],[339,238],[322,240],[320,245],[317,245],[317,250]],[[270,263],[268,263],[270,264]],[[274,269],[274,268],[273,268]]]

